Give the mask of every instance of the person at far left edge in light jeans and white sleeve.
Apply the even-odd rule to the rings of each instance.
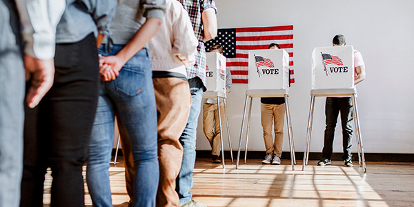
[[[0,0],[0,206],[19,206],[25,70],[25,104],[34,108],[53,84],[55,32],[64,8],[62,0]]]

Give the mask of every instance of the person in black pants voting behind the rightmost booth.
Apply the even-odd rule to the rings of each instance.
[[[334,47],[345,46],[345,37],[342,34],[337,34],[333,37],[332,44]],[[354,67],[355,79],[354,84],[365,79],[365,64],[362,55],[357,50],[354,50]],[[333,138],[335,135],[335,126],[337,124],[338,114],[341,112],[342,124],[342,147],[344,148],[344,165],[352,167],[352,124],[353,120],[353,106],[351,97],[326,97],[325,116],[326,128],[324,136],[324,148],[322,150],[322,159],[317,162],[318,166],[326,166],[331,164],[331,156],[333,151]]]

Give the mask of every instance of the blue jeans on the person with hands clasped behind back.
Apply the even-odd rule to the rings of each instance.
[[[103,56],[116,55],[114,45]],[[159,181],[157,157],[157,108],[148,50],[139,50],[114,81],[101,81],[97,114],[92,129],[86,179],[94,206],[112,206],[109,172],[114,122],[121,137],[128,137],[136,169],[134,206],[155,206]]]

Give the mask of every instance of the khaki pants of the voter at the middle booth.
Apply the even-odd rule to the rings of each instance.
[[[283,104],[266,104],[261,103],[262,127],[264,146],[266,155],[282,156],[283,144],[283,126],[284,113],[286,111],[285,103]],[[275,142],[273,143],[272,125],[275,121]]]

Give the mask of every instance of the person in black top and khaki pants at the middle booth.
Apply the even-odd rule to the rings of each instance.
[[[270,43],[270,50],[280,49],[277,43]],[[290,83],[290,78],[289,78]],[[283,144],[284,113],[286,111],[284,97],[260,98],[260,111],[262,113],[262,128],[266,157],[263,164],[280,164]],[[275,141],[272,137],[272,124],[275,122]]]

